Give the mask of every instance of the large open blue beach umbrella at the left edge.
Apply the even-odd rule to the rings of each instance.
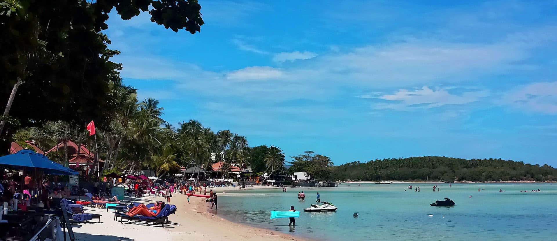
[[[0,157],[0,165],[11,165],[14,167],[32,167],[43,170],[53,175],[77,175],[79,172],[52,162],[45,155],[32,150],[20,150],[11,155]]]

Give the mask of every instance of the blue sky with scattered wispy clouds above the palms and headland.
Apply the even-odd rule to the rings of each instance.
[[[200,0],[201,33],[115,11],[105,33],[125,82],[175,126],[335,164],[557,165],[557,2],[418,2]]]

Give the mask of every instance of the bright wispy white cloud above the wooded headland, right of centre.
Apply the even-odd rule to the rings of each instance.
[[[386,94],[382,96],[372,97],[383,99],[395,103],[378,103],[374,109],[397,109],[404,110],[409,107],[419,106],[420,108],[441,107],[451,104],[467,104],[479,101],[483,97],[487,97],[487,91],[463,92],[460,95],[451,94],[447,89],[430,89],[427,86],[421,89],[407,90],[400,89],[394,94]],[[367,96],[361,97],[367,98]]]

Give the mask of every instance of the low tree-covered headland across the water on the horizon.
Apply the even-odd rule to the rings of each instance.
[[[410,157],[331,167],[331,180],[557,181],[557,169],[502,159]]]

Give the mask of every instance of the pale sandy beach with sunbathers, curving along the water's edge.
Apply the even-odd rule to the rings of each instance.
[[[276,188],[267,186],[248,187],[248,189]],[[226,190],[239,188],[219,187],[216,190],[220,198],[225,198]],[[152,203],[164,201],[162,197],[130,198],[134,202]],[[72,228],[78,240],[83,241],[133,241],[133,240],[203,240],[203,241],[249,241],[249,240],[305,240],[291,235],[273,232],[271,230],[253,228],[242,224],[229,222],[218,216],[218,210],[211,210],[211,203],[204,198],[191,197],[189,204],[187,197],[174,194],[170,203],[177,206],[177,212],[170,215],[170,223],[165,227],[156,224],[138,222],[124,223],[114,221],[114,210],[84,208],[85,213],[102,214],[101,223],[74,223]],[[96,220],[92,220],[96,221]]]

